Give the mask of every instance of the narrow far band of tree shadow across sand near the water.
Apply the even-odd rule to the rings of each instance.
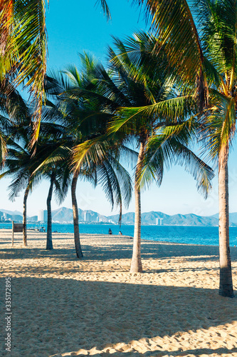
[[[41,238],[40,238],[41,239]],[[46,239],[42,238],[46,241]],[[63,241],[65,238],[62,238]],[[66,238],[68,240],[68,238]],[[37,238],[38,240],[38,238]],[[33,241],[33,239],[32,239]],[[92,238],[93,241],[93,238]],[[33,243],[33,242],[32,242]],[[100,248],[98,246],[87,245],[81,240],[83,248],[83,261],[112,261],[115,259],[125,259],[132,258],[132,242],[121,240],[117,241],[116,246],[107,243],[106,238],[101,239]],[[73,239],[70,239],[68,247],[61,248],[60,246],[53,244],[54,248],[52,251],[46,251],[41,247],[27,246],[27,247],[11,247],[6,245],[0,249],[0,258],[19,258],[19,253],[21,253],[22,258],[46,258],[48,256],[53,256],[58,260],[66,261],[79,261],[75,256],[75,247]],[[172,244],[172,243],[162,243],[162,242],[147,242],[142,241],[142,259],[157,258],[157,259],[167,259],[169,258],[185,258],[186,261],[217,261],[218,260],[218,246],[198,246],[192,244]],[[237,259],[237,248],[231,248],[231,259],[234,261]]]

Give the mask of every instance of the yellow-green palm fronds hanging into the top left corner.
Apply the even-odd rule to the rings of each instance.
[[[97,3],[100,3],[107,19],[110,19],[106,1],[99,0]],[[34,99],[35,125],[31,143],[33,145],[38,139],[42,104],[46,100],[46,1],[1,1],[0,38],[0,83],[9,77],[14,80],[14,87],[23,83],[30,88],[30,94]]]

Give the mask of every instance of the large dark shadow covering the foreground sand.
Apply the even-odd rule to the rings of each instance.
[[[186,335],[201,329],[215,343],[220,337],[209,328],[237,320],[236,299],[218,296],[216,289],[29,277],[11,279],[11,296],[12,356],[101,351],[108,344],[117,344],[114,356],[164,356],[167,350],[162,351],[160,338],[176,338],[181,348]],[[120,346],[132,348],[134,341],[149,345],[157,337],[157,351],[150,354],[122,351]],[[201,346],[188,348],[191,353]],[[186,356],[183,349],[177,356]]]

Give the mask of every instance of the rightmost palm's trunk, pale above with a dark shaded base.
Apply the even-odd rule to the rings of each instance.
[[[218,157],[218,190],[220,252],[219,295],[233,298],[228,221],[228,145],[222,146]]]

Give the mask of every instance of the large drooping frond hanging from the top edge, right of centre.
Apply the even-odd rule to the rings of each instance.
[[[143,5],[147,20],[164,46],[170,68],[179,78],[196,86],[200,108],[207,104],[207,85],[204,76],[204,54],[199,33],[186,0],[133,0]],[[159,53],[159,46],[157,47]]]

